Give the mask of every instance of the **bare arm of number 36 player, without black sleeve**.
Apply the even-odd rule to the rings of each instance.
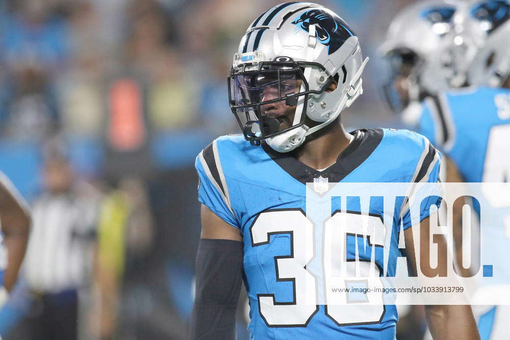
[[[437,218],[436,215],[431,215]],[[429,236],[430,236],[430,217],[423,219],[420,223],[420,263],[424,263],[430,256]],[[412,229],[404,230],[404,239],[406,245],[413,245]],[[435,237],[443,238],[435,242],[446,244],[446,240],[442,235]],[[438,247],[438,258],[448,256],[446,247]],[[410,260],[411,270],[417,272],[416,254],[413,246],[406,247],[407,257]],[[438,261],[438,266],[442,266],[442,261]],[[420,269],[424,275],[433,276],[437,270],[427,269],[422,266]],[[429,270],[430,273],[426,271]],[[433,271],[433,272],[432,272]],[[480,336],[476,328],[476,322],[473,317],[471,306],[469,305],[426,305],[425,315],[427,318],[430,333],[434,339],[439,340],[476,340]]]

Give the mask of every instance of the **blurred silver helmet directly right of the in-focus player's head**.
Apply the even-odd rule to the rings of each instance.
[[[445,38],[456,8],[455,1],[420,1],[405,7],[391,22],[380,53],[391,66],[384,91],[394,111],[401,112],[410,103],[450,87],[449,62],[441,52],[448,47]],[[405,100],[395,89],[399,76],[406,81]]]

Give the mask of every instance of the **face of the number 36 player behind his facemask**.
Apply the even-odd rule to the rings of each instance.
[[[274,84],[265,88],[261,101],[273,100],[279,98],[279,93],[298,93],[301,89],[301,80],[296,77],[282,80],[279,84]],[[296,106],[288,106],[285,100],[265,104],[261,106],[262,115],[277,119],[280,122],[279,130],[284,130],[293,125],[296,114]]]

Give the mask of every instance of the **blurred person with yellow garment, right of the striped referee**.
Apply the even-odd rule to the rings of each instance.
[[[185,338],[185,328],[169,313],[158,289],[158,265],[147,258],[154,241],[147,194],[140,178],[126,176],[101,209],[96,271],[100,293],[91,313],[100,338]]]

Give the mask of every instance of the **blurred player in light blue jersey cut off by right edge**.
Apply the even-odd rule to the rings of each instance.
[[[469,62],[464,78],[471,87],[426,99],[418,127],[418,132],[428,137],[446,155],[448,182],[508,181],[509,19],[510,2],[507,0],[470,1],[453,19],[455,30],[450,57],[454,63]],[[470,56],[472,50],[477,51],[474,58]],[[510,195],[503,189],[504,186],[498,195]],[[484,278],[478,294],[489,292],[491,295],[507,295],[510,292],[510,265],[501,257],[510,242],[508,221],[498,221],[494,224],[497,227],[481,226],[482,256],[497,264],[500,281],[493,277]],[[457,243],[461,240],[456,239]],[[460,256],[462,253],[457,252],[457,261],[460,261]],[[487,281],[490,286],[486,285]],[[507,320],[510,318],[510,308],[499,305],[486,306],[484,309],[484,312],[477,312],[481,338],[509,338]]]

